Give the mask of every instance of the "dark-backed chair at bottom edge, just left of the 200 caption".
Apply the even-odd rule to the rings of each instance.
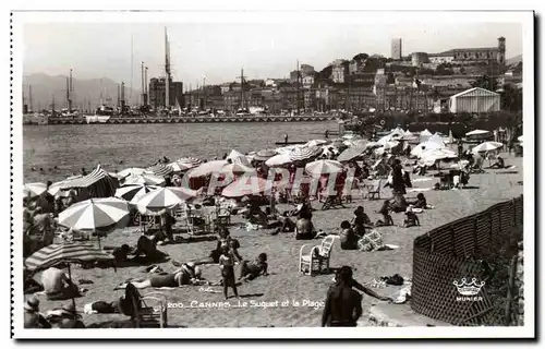
[[[157,305],[149,306],[146,301],[153,301]],[[129,282],[125,287],[125,296],[120,301],[120,310],[123,314],[131,316],[136,328],[168,326],[167,298],[160,292],[141,296],[136,287]]]

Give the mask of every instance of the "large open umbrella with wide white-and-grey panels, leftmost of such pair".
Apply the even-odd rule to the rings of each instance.
[[[76,230],[110,230],[129,222],[129,204],[117,197],[89,198],[59,214],[59,225]]]

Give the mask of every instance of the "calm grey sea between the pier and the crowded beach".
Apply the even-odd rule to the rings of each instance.
[[[24,181],[58,181],[83,167],[90,171],[97,164],[110,172],[147,167],[162,156],[170,160],[185,156],[221,158],[233,148],[243,153],[274,148],[284,134],[289,141],[323,139],[326,130],[337,131],[338,124],[331,121],[25,125]],[[33,171],[33,167],[38,170]]]

